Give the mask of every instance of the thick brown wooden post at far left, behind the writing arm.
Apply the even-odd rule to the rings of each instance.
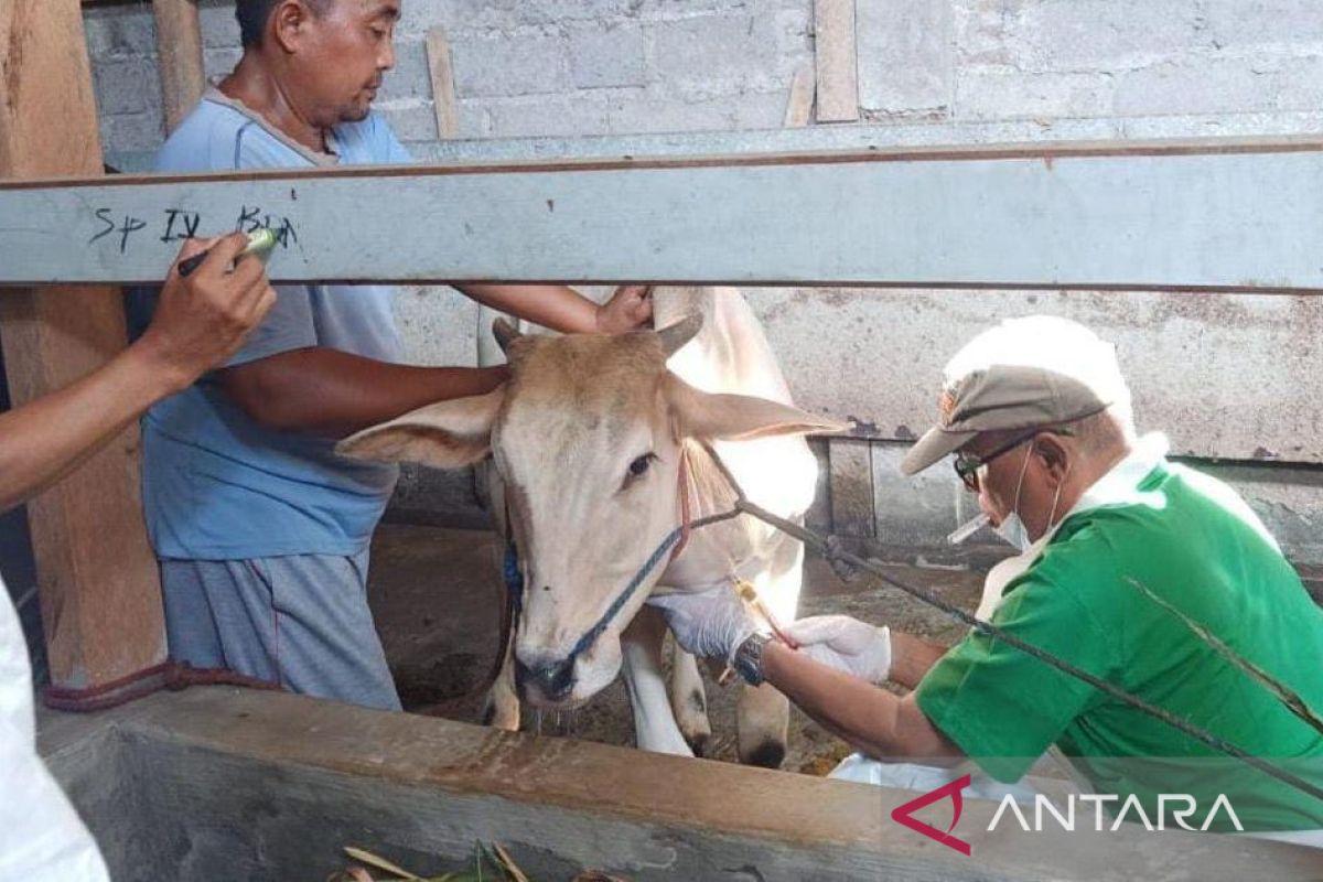
[[[101,139],[78,0],[0,4],[0,46],[7,49],[0,177],[99,176]],[[124,340],[123,307],[112,288],[0,295],[0,341],[15,406],[94,370]],[[101,685],[164,659],[138,448],[134,427],[28,506],[56,685]]]

